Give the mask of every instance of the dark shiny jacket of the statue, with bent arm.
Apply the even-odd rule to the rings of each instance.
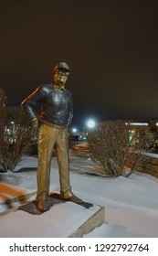
[[[67,89],[57,90],[52,83],[40,85],[22,102],[22,107],[30,122],[39,119],[40,123],[65,128],[73,115],[72,93]]]

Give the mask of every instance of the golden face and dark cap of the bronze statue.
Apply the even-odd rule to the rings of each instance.
[[[53,80],[58,86],[65,85],[68,80],[69,67],[65,62],[59,62],[53,70]]]

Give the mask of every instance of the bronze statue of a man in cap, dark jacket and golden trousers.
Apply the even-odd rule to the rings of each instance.
[[[50,165],[54,148],[58,160],[60,197],[75,203],[82,202],[72,193],[69,182],[68,125],[73,115],[73,100],[71,92],[65,88],[68,74],[68,64],[59,62],[53,72],[53,82],[39,86],[22,102],[30,123],[38,128],[36,207],[40,212],[47,210],[45,203],[49,193]]]

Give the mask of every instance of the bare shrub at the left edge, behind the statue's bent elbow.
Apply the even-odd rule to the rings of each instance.
[[[4,172],[13,171],[28,151],[32,128],[25,112],[17,107],[0,109],[0,165]]]

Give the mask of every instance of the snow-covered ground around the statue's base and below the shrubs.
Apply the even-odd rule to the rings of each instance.
[[[158,179],[139,172],[128,178],[87,174],[92,167],[90,159],[79,158],[70,151],[70,180],[74,194],[105,208],[105,223],[84,238],[158,238]],[[15,173],[0,174],[0,184],[13,185],[16,192],[23,189],[36,191],[36,170],[37,158],[26,156],[16,165]],[[56,157],[52,159],[50,191],[59,192]],[[1,202],[13,196],[11,191],[0,190]],[[16,213],[0,217],[0,227],[5,218],[12,219],[13,214]],[[29,221],[28,214],[26,222]]]

